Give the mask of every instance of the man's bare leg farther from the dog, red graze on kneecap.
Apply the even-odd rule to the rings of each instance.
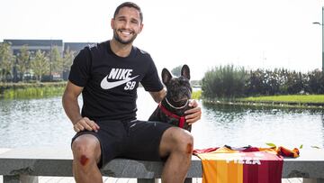
[[[100,143],[94,135],[84,134],[72,143],[73,175],[77,183],[102,183],[103,177],[97,167],[100,160]]]

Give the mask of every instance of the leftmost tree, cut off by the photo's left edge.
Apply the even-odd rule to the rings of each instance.
[[[10,48],[11,43],[0,43],[0,80],[2,81],[13,78],[14,55]]]

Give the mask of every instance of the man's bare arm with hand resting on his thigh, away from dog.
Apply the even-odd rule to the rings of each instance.
[[[77,97],[81,94],[83,87],[78,87],[75,84],[67,81],[67,87],[62,97],[63,108],[67,117],[71,120],[74,130],[77,132],[89,130],[97,131],[99,126],[87,117],[82,117],[80,107],[77,102]]]

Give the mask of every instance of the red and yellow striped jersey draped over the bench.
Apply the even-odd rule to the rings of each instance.
[[[202,183],[279,183],[284,158],[274,148],[229,146],[195,150],[202,160]]]

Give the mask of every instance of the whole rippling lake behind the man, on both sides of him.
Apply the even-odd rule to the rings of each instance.
[[[82,101],[79,100],[80,104]],[[288,148],[324,146],[322,110],[253,108],[233,105],[202,106],[202,119],[193,124],[194,148],[253,145],[266,142]],[[157,107],[139,88],[138,118],[148,119]],[[60,97],[0,100],[0,148],[70,147],[74,135]]]

